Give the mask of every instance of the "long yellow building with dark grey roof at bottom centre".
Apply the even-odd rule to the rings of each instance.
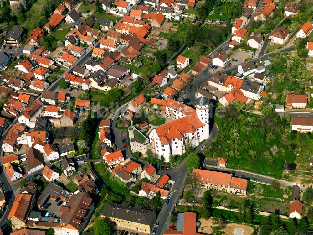
[[[109,218],[116,222],[117,228],[125,228],[150,234],[156,222],[156,212],[142,209],[142,205],[130,206],[129,202],[122,204],[106,202],[102,212],[102,218]]]

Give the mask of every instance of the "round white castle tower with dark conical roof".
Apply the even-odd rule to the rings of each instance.
[[[209,138],[209,131],[210,131],[210,101],[208,98],[202,96],[196,100],[196,111],[197,116],[202,123],[205,124],[205,139]]]

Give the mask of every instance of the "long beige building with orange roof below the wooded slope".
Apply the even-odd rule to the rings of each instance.
[[[233,177],[230,173],[193,169],[193,175],[201,183],[202,188],[238,195],[246,195],[247,193],[248,180]]]

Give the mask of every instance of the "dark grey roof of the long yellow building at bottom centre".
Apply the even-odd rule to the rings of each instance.
[[[156,212],[142,209],[142,205],[130,206],[129,202],[116,204],[107,202],[101,212],[106,217],[115,217],[136,223],[153,225],[156,221]]]

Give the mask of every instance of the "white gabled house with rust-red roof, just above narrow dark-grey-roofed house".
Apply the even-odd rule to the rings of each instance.
[[[23,114],[18,117],[18,122],[30,128],[34,128],[37,118],[41,117],[43,107],[43,103],[39,100],[35,100],[28,108],[25,108]]]

